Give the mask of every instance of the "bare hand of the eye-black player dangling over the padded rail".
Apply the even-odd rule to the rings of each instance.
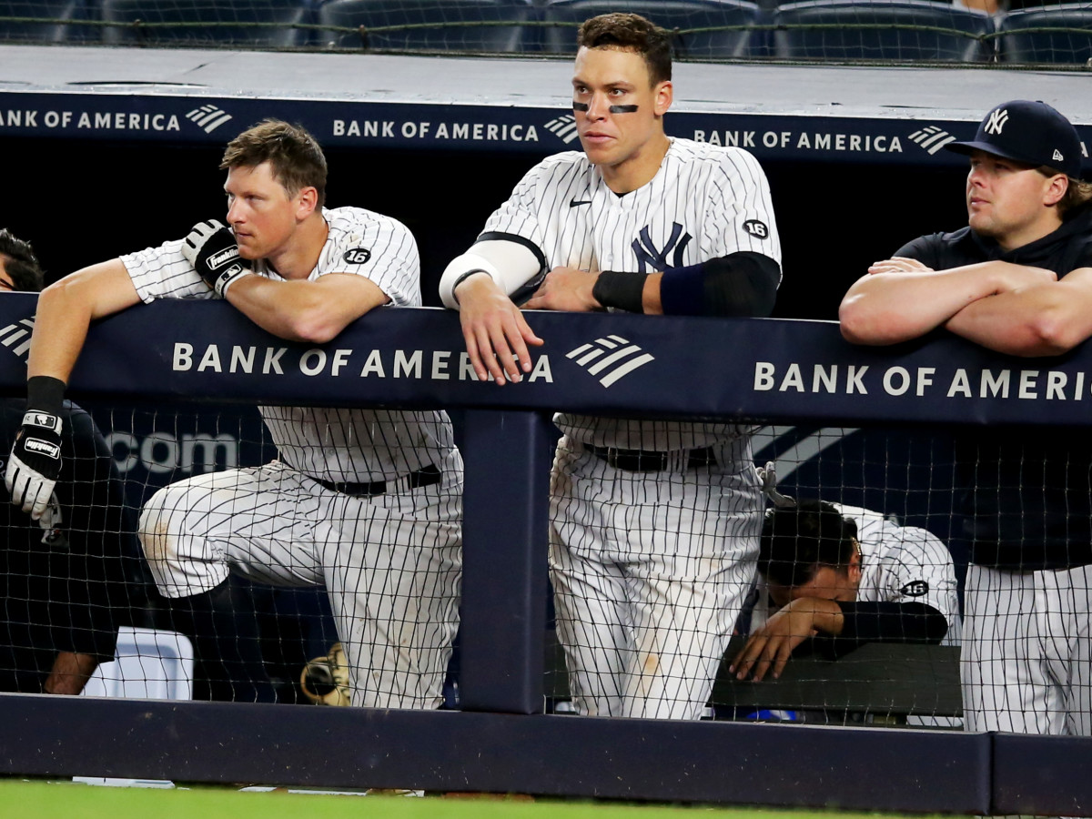
[[[492,278],[484,273],[471,276],[459,285],[455,298],[466,352],[478,381],[492,378],[503,384],[506,376],[520,381],[522,372],[531,372],[527,345],[539,346],[543,340]]]

